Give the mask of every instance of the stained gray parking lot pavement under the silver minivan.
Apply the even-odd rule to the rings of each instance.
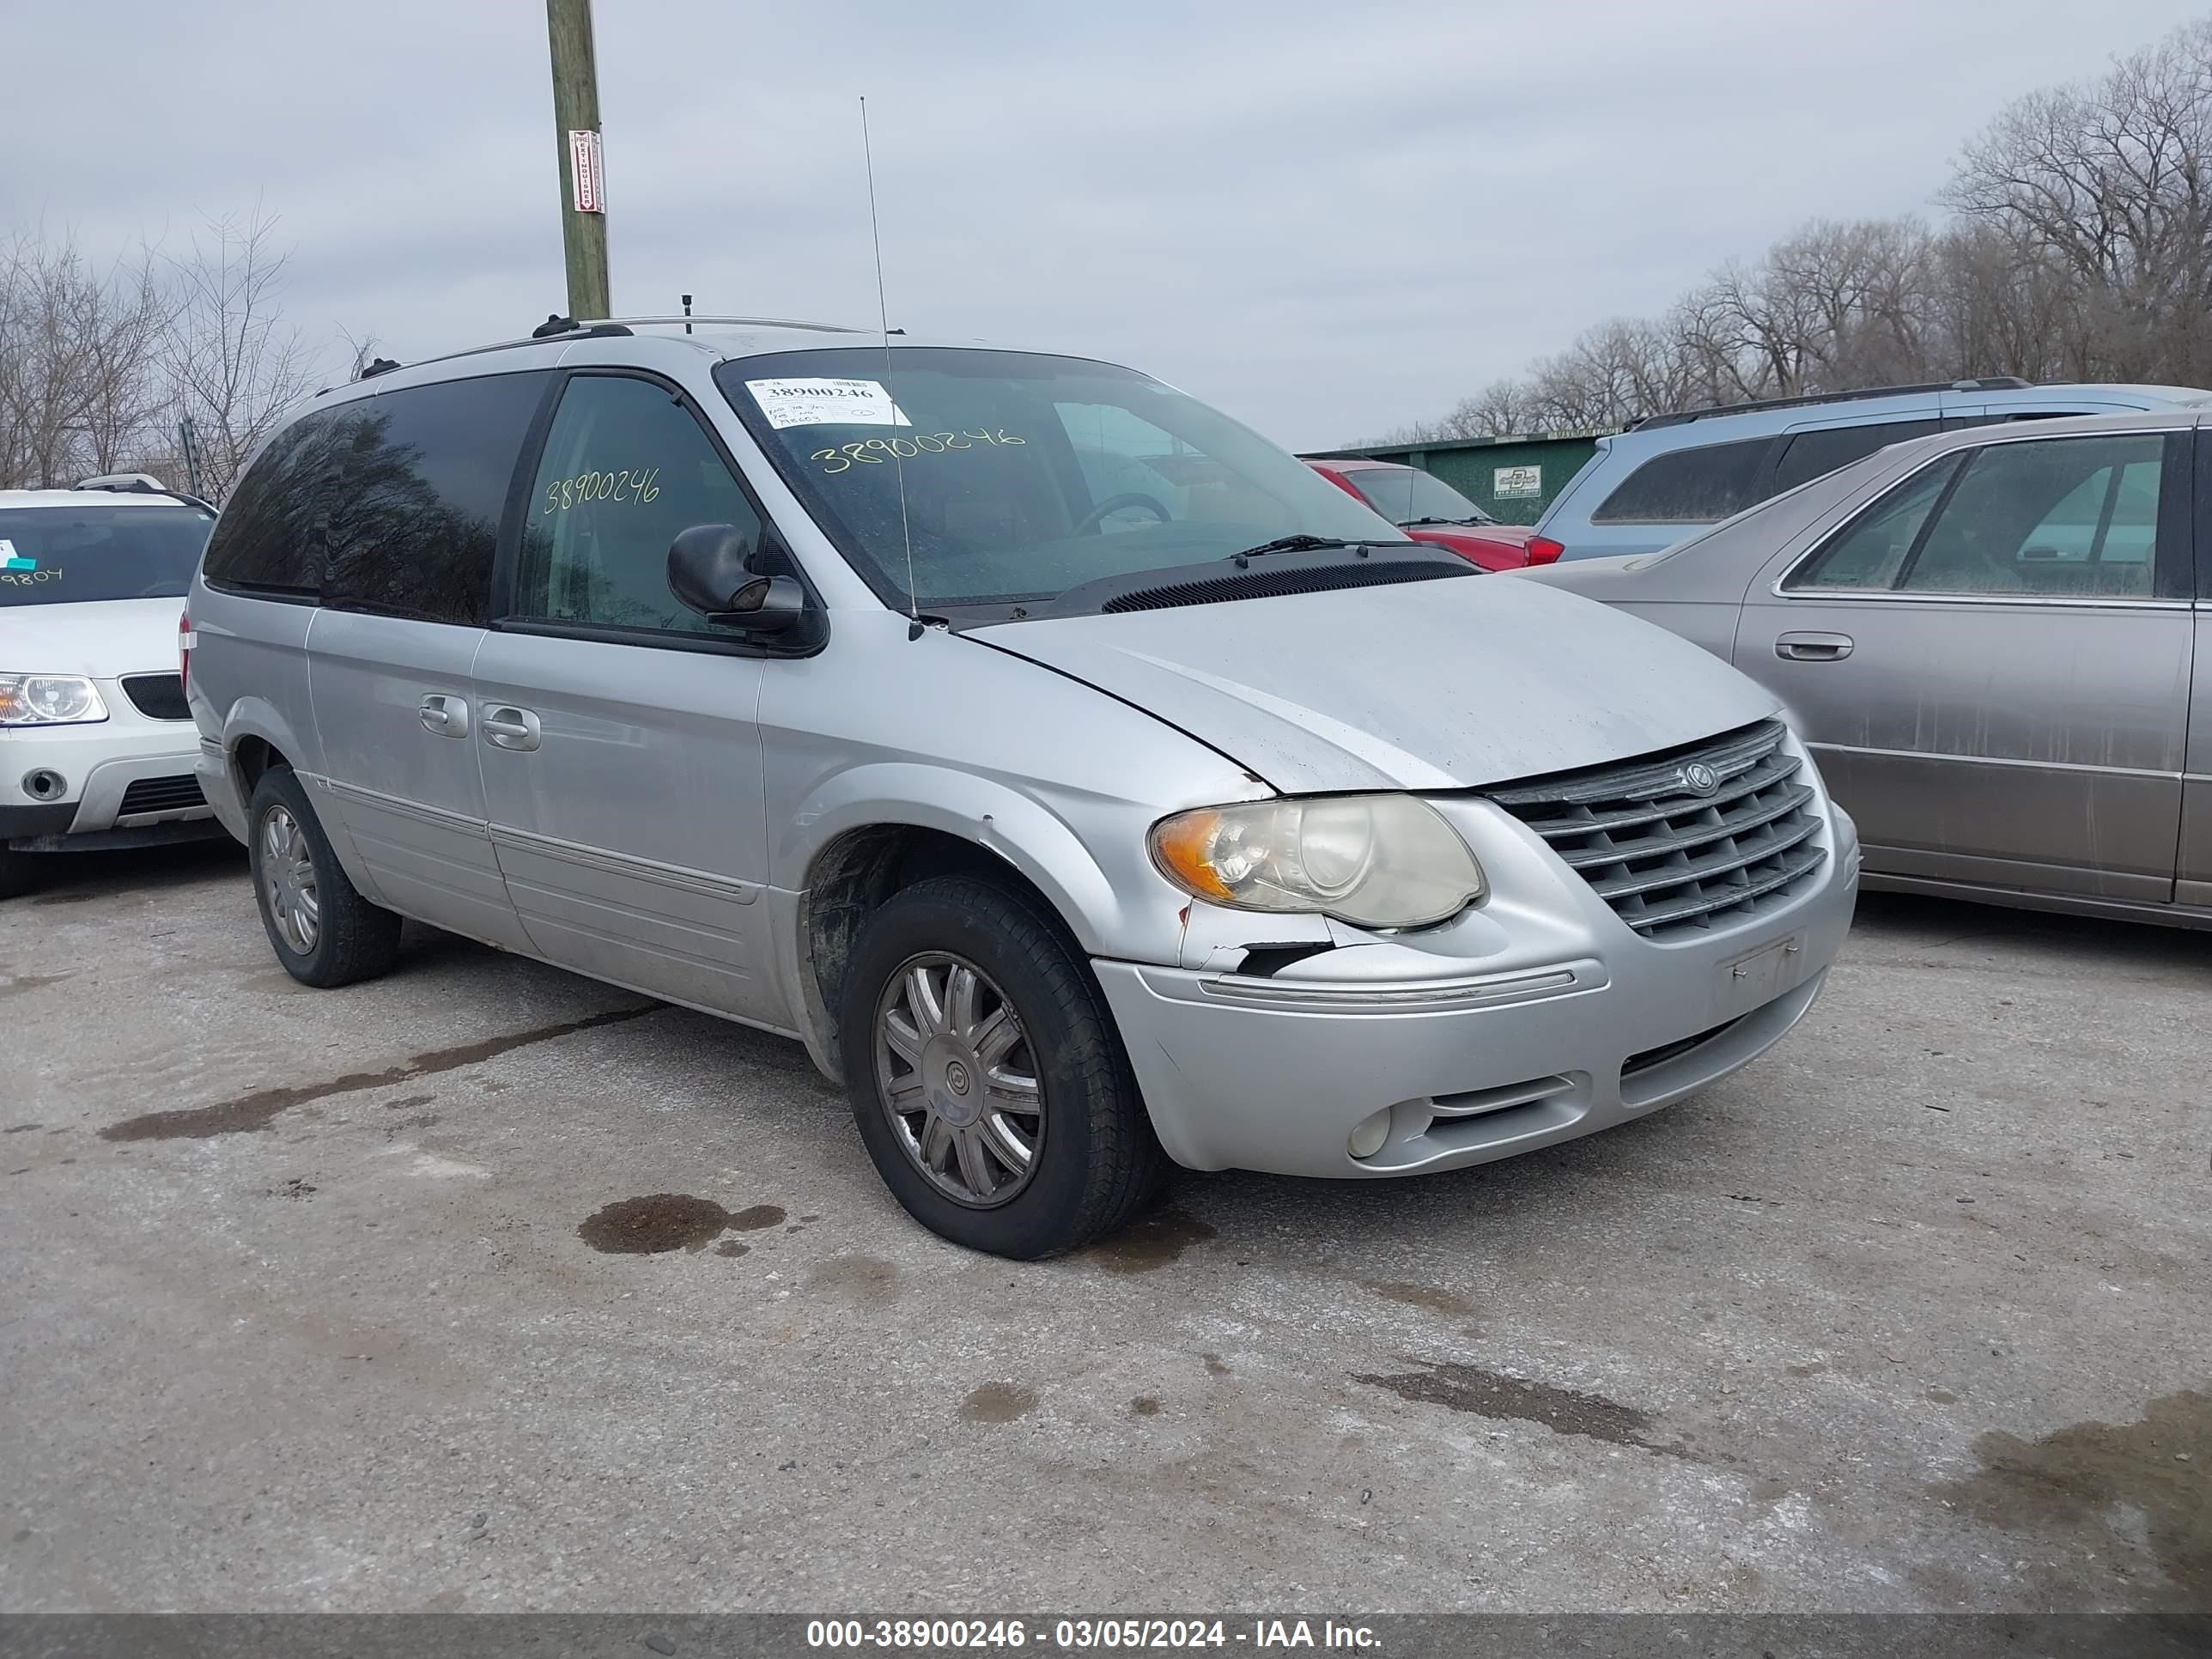
[[[0,1606],[2212,1606],[2203,936],[1867,898],[1701,1099],[1015,1267],[796,1044],[241,872],[0,907]]]

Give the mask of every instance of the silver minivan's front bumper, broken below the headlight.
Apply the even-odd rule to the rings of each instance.
[[[1095,962],[1170,1157],[1374,1179],[1639,1117],[1750,1064],[1805,1015],[1858,896],[1856,830],[1825,801],[1820,867],[1688,942],[1632,931],[1489,803],[1449,812],[1469,814],[1491,891],[1444,927],[1329,922],[1276,940],[1267,918],[1210,911],[1179,967]],[[1374,1150],[1354,1157],[1363,1126]]]

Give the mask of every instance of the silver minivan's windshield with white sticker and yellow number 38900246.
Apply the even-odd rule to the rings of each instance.
[[[823,533],[896,608],[1044,602],[1318,535],[1405,544],[1248,427],[1133,369],[942,347],[714,369]],[[905,502],[900,502],[905,482]]]

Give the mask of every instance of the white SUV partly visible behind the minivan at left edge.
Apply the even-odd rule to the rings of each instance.
[[[179,670],[212,526],[148,484],[0,491],[0,898],[40,854],[223,834]]]

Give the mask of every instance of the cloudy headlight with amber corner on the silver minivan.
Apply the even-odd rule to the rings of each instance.
[[[1199,807],[1152,825],[1152,863],[1197,898],[1420,927],[1482,898],[1482,865],[1409,794]]]

